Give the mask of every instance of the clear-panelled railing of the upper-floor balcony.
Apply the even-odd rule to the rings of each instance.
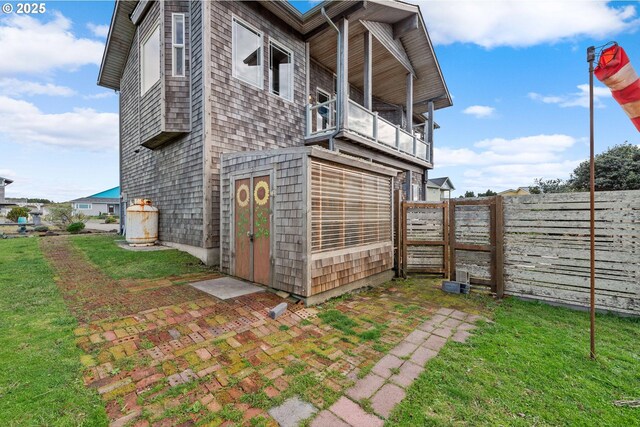
[[[357,136],[374,143],[381,151],[402,153],[421,162],[431,164],[431,144],[419,131],[423,125],[414,126],[413,134],[395,125],[377,112],[369,111],[357,102],[348,101],[348,128],[341,129],[347,136]],[[336,131],[336,100],[307,105],[306,138],[328,136]],[[393,150],[390,152],[390,150]]]

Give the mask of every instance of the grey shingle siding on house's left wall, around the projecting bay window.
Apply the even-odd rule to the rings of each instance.
[[[185,123],[188,123],[191,132],[178,136],[155,150],[141,147],[147,138],[161,130],[163,106],[155,97],[160,97],[162,85],[157,84],[141,98],[139,65],[140,33],[153,31],[160,19],[160,5],[160,2],[154,2],[139,26],[121,81],[121,187],[128,200],[138,197],[153,200],[154,205],[160,210],[161,240],[202,247],[204,145],[200,1],[164,2],[165,28],[168,28],[168,32],[170,33],[171,28],[171,12],[179,11],[186,15],[187,34],[190,36],[186,40],[187,77],[181,81],[172,77],[166,78],[165,96],[172,101],[165,105],[173,102],[175,105],[167,108],[164,114],[172,126],[186,129]],[[191,34],[190,28],[198,28],[198,31]],[[165,33],[165,40],[170,42],[170,37],[170,34]],[[164,58],[165,67],[161,73],[161,82],[163,76],[171,75],[170,43],[165,48]],[[191,107],[188,102],[189,96]]]

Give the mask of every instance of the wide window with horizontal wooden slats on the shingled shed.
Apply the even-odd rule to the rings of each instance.
[[[391,178],[312,160],[311,223],[314,253],[391,241]]]

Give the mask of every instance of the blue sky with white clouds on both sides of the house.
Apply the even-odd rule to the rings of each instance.
[[[568,178],[589,152],[586,48],[616,40],[640,71],[635,2],[414,3],[454,103],[435,113],[429,176],[454,194]],[[0,176],[15,181],[7,197],[66,201],[118,185],[118,96],[96,85],[113,1],[45,8],[0,12]],[[595,95],[596,152],[640,144],[608,89]]]

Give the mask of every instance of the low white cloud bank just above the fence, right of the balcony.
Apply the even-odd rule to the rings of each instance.
[[[459,190],[501,191],[531,185],[535,178],[568,177],[581,161],[565,158],[576,142],[562,134],[492,138],[476,142],[473,148],[435,147],[434,157],[438,169],[465,168],[463,182],[456,183]]]

